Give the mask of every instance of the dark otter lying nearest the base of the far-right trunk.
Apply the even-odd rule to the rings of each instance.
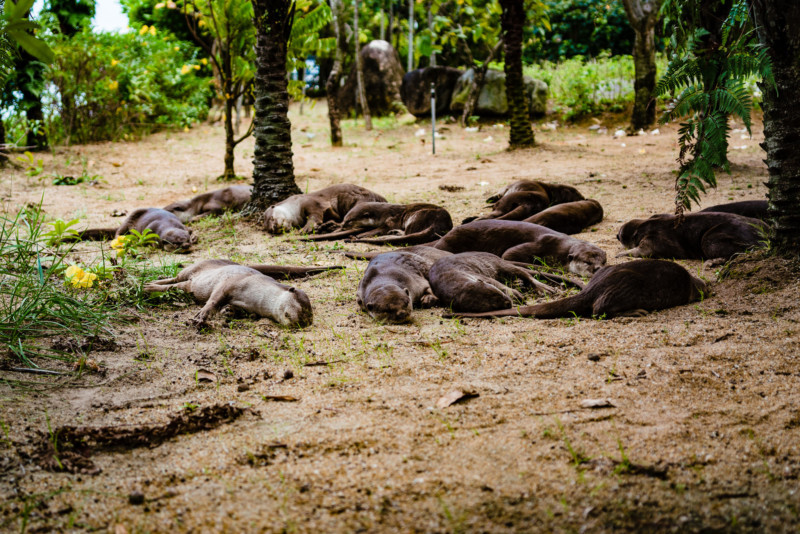
[[[626,222],[617,239],[630,250],[617,257],[727,260],[760,246],[769,228],[758,219],[733,213],[687,213],[680,225],[675,223],[676,216],[671,214]]]

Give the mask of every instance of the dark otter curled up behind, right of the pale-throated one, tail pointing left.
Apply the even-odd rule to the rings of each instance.
[[[355,234],[359,243],[376,245],[417,245],[435,241],[453,229],[447,210],[434,204],[389,204],[359,202],[347,212],[340,230],[330,234],[308,236],[306,241],[326,241]],[[374,239],[374,235],[399,232]]]

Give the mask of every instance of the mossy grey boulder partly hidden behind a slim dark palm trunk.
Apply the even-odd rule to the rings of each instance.
[[[450,101],[450,110],[461,113],[469,95],[469,87],[475,77],[475,71],[469,69],[456,82]],[[547,112],[547,84],[530,76],[524,77],[525,93],[528,96],[528,109],[531,117],[539,117]],[[481,94],[478,95],[476,115],[507,115],[506,74],[499,70],[486,71]]]

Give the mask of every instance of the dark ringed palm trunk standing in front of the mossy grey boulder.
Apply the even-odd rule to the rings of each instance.
[[[501,23],[506,60],[506,100],[511,117],[510,148],[533,146],[533,128],[522,76],[522,27],[525,24],[523,0],[500,0]]]

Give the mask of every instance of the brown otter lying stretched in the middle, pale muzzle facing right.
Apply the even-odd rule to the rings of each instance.
[[[522,221],[474,221],[453,228],[434,247],[453,253],[490,252],[524,263],[540,258],[581,276],[592,276],[606,263],[606,253],[596,245]]]

